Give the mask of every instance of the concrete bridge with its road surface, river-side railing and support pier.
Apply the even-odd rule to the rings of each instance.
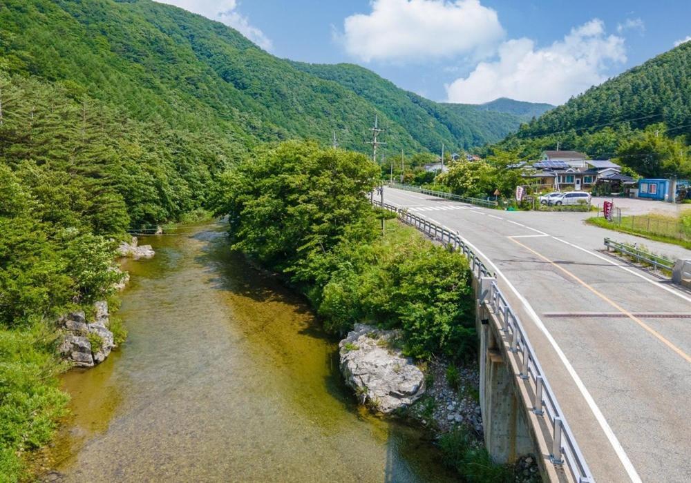
[[[505,212],[389,187],[382,201],[471,259],[495,459],[534,452],[553,481],[691,481],[688,291],[602,253],[612,234],[584,213]]]

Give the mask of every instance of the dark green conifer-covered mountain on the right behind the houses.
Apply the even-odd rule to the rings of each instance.
[[[523,159],[545,149],[616,158],[647,177],[691,178],[691,42],[521,126],[498,145]]]

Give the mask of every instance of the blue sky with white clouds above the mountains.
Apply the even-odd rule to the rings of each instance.
[[[558,105],[691,41],[691,0],[158,0],[434,101]]]

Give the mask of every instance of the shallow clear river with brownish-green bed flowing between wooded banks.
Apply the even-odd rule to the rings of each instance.
[[[220,230],[220,228],[218,228]],[[62,377],[50,450],[66,482],[446,482],[415,428],[370,415],[301,297],[222,231],[142,239],[118,314],[127,342]]]

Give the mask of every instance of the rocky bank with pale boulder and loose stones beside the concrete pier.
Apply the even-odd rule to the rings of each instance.
[[[472,451],[484,448],[480,370],[475,363],[433,359],[418,365],[397,348],[397,331],[356,324],[339,343],[341,373],[361,404],[382,415],[396,414],[421,424],[437,442],[462,433]],[[533,455],[510,470],[517,483],[541,480]]]

